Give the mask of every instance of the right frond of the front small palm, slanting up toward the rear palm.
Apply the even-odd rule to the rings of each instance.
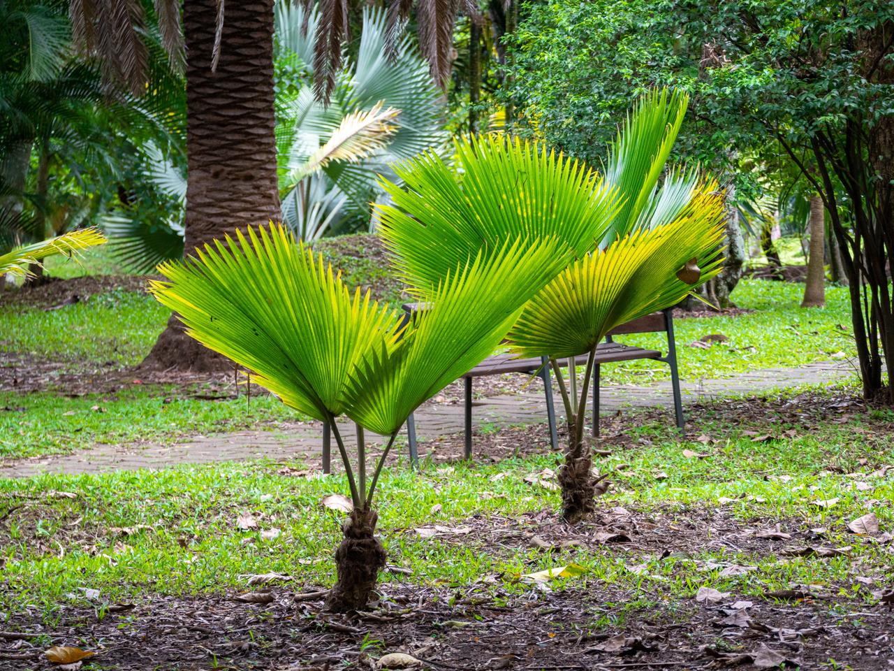
[[[556,239],[516,239],[444,278],[391,351],[372,352],[350,385],[348,416],[390,434],[410,412],[489,356],[522,306],[569,262]]]

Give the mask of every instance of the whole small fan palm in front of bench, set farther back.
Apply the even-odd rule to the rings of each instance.
[[[604,176],[544,147],[500,137],[459,140],[456,162],[434,153],[384,183],[381,234],[422,300],[461,259],[498,241],[554,236],[573,259],[528,303],[510,333],[519,355],[548,356],[569,423],[560,472],[562,512],[595,509],[597,480],[583,415],[596,347],[613,327],[678,303],[720,271],[722,194],[696,170],[666,169],[687,98],[641,99],[611,145]],[[663,180],[662,180],[663,175]],[[582,386],[575,357],[585,355]],[[558,360],[571,357],[569,388]]]

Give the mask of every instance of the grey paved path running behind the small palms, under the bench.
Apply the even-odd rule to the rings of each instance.
[[[683,403],[723,395],[755,395],[794,386],[822,385],[850,378],[855,372],[851,361],[812,363],[797,369],[764,369],[730,379],[704,380],[701,384],[683,384]],[[487,423],[494,428],[545,421],[543,390],[533,383],[517,395],[498,395],[477,402],[473,412],[476,426]],[[561,403],[556,394],[557,411]],[[671,383],[651,386],[604,386],[601,411],[610,414],[625,407],[668,407],[671,415]],[[426,403],[416,414],[420,454],[426,454],[425,441],[462,431],[461,405]],[[340,426],[342,426],[340,424]],[[353,430],[342,428],[348,442]],[[367,437],[367,440],[371,440]],[[0,463],[0,477],[21,478],[41,471],[54,473],[97,473],[138,468],[166,468],[181,463],[213,463],[267,457],[319,459],[319,424],[299,424],[288,432],[239,431],[217,436],[194,437],[188,442],[175,441],[148,446],[97,446],[74,454],[12,460]],[[333,446],[334,452],[334,446]],[[334,456],[334,455],[333,455]]]

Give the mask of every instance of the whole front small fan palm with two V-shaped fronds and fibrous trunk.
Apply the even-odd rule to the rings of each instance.
[[[373,497],[409,413],[492,352],[568,261],[554,239],[505,242],[487,262],[478,254],[448,273],[431,310],[405,327],[368,292],[349,292],[282,226],[238,232],[159,267],[167,281],[153,282],[151,292],[192,337],[250,369],[283,403],[332,426],[354,508],[342,527],[329,607],[364,607],[384,567]],[[365,446],[353,463],[340,415],[388,437],[368,487]]]

